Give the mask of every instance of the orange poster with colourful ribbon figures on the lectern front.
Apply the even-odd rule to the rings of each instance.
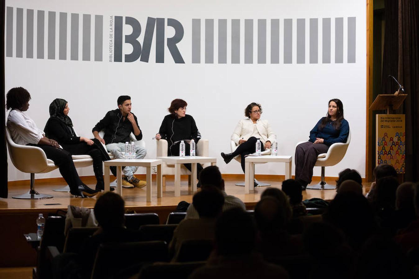
[[[404,114],[377,114],[376,165],[390,164],[404,174],[406,126]]]

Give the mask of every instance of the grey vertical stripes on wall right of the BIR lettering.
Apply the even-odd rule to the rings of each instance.
[[[344,63],[344,18],[335,18],[334,20],[334,63]],[[256,20],[253,19],[231,19],[230,30],[227,30],[227,22],[227,19],[205,19],[203,28],[201,19],[192,19],[192,63],[201,63],[201,32],[204,33],[205,38],[205,49],[203,49],[205,63],[214,63],[214,44],[218,45],[219,64],[227,63],[229,58],[232,64],[266,64],[267,53],[270,53],[271,64],[279,64],[280,60],[284,64],[331,63],[331,47],[333,46],[331,18],[258,19],[257,25]],[[218,24],[218,28],[214,26],[215,23]],[[279,36],[281,25],[283,26],[281,27],[283,29],[282,38]],[[293,31],[293,25],[295,31]],[[267,36],[267,26],[270,26],[270,37]],[[347,18],[347,28],[347,63],[355,63],[356,17]],[[214,38],[215,29],[218,29],[218,38]],[[244,30],[244,45],[241,45],[241,30]],[[228,32],[231,33],[230,57],[227,57]],[[256,32],[256,37],[254,32]],[[293,36],[296,38],[295,45],[293,45]],[[256,44],[253,43],[253,38],[256,38]],[[270,46],[270,49],[267,49],[267,46]],[[283,47],[282,55],[279,51],[281,47]],[[241,50],[243,50],[244,59],[240,57]],[[255,52],[257,62],[253,61]],[[308,53],[308,57],[306,57],[306,53]]]

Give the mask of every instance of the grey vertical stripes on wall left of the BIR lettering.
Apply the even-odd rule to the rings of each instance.
[[[44,10],[36,11],[36,30],[34,23],[34,10],[16,8],[16,19],[13,18],[13,7],[6,7],[6,56],[23,58],[23,45],[26,44],[26,58],[34,58],[36,48],[36,58],[44,59],[47,51],[47,59],[67,60],[67,44],[70,43],[70,59],[79,60],[79,36],[81,35],[83,61],[91,61],[93,51],[94,61],[102,61],[103,55],[103,15],[94,16],[94,45],[91,46],[92,15],[78,13],[56,13]],[[26,16],[26,42],[23,41],[23,22]],[[46,19],[47,16],[47,19]],[[57,18],[58,16],[58,18]],[[82,18],[82,34],[79,35],[79,20]],[[70,19],[70,22],[68,20]],[[47,20],[47,49],[45,49],[45,21]],[[58,27],[57,26],[58,21]],[[13,23],[16,22],[16,30],[13,30]],[[70,40],[67,40],[67,25],[70,25]],[[15,32],[15,33],[14,33]],[[34,33],[36,38],[34,39]],[[13,37],[15,40],[15,51],[13,55]],[[58,45],[56,45],[58,37]],[[56,55],[56,49],[58,55]]]

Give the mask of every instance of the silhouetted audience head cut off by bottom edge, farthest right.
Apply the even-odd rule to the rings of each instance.
[[[356,263],[357,279],[413,278],[405,254],[393,239],[373,236],[361,248]]]

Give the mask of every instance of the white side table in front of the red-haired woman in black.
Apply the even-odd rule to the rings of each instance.
[[[211,166],[215,166],[217,164],[217,158],[202,156],[167,156],[157,157],[157,159],[161,159],[163,162],[175,165],[175,197],[181,196],[181,164],[191,164],[192,166],[191,184],[193,192],[197,192],[197,164],[211,163]]]

